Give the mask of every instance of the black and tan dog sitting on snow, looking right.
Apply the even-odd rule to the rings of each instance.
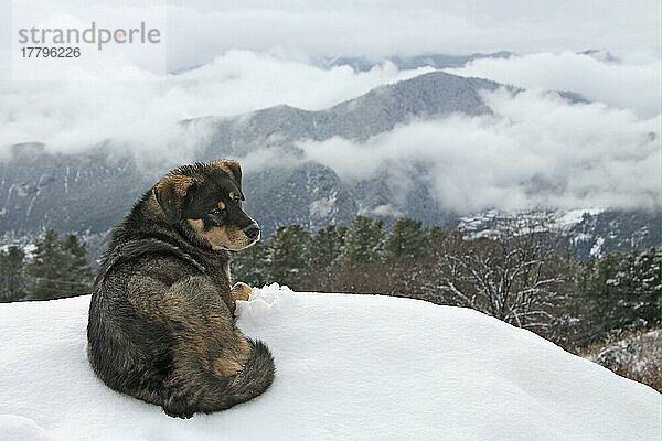
[[[191,418],[227,409],[273,383],[267,346],[244,336],[229,252],[259,240],[242,208],[234,160],[169,172],[113,230],[93,286],[87,353],[108,387]]]

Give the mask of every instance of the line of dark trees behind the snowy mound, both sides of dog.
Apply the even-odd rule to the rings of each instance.
[[[298,291],[381,293],[471,308],[576,351],[660,324],[660,247],[580,260],[545,228],[505,228],[492,237],[401,218],[357,216],[351,226],[310,233],[278,228],[234,255],[235,280]],[[29,258],[28,258],[29,257]],[[0,301],[88,293],[94,279],[85,244],[53,229],[31,256],[0,251]]]

